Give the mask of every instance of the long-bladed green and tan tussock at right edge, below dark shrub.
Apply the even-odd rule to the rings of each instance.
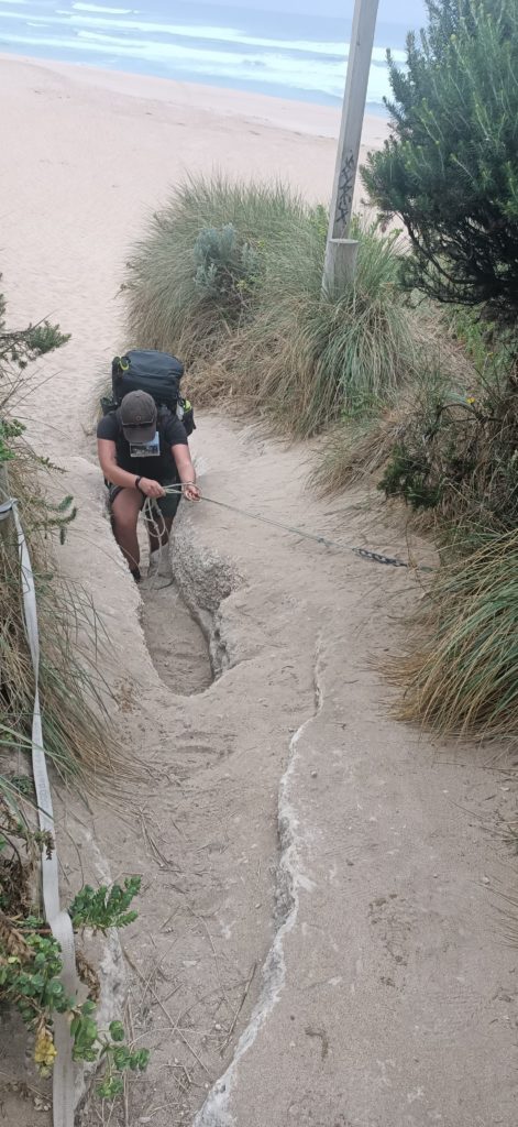
[[[479,533],[458,549],[419,613],[425,641],[393,677],[404,685],[396,715],[441,733],[516,736],[518,532]]]

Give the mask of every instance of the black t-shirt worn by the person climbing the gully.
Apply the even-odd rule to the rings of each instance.
[[[151,478],[153,481],[178,481],[178,470],[171,454],[171,446],[188,446],[187,434],[182,423],[171,411],[159,414],[157,428],[160,437],[160,454],[151,458],[132,458],[130,443],[124,437],[118,411],[110,411],[97,425],[97,437],[115,442],[117,465],[136,477]]]

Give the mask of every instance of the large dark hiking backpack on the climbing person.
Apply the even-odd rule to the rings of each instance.
[[[172,411],[184,424],[187,435],[196,429],[193,407],[180,396],[184,364],[169,353],[155,348],[132,348],[111,362],[111,399],[100,401],[102,414],[116,411],[130,391],[146,391],[157,407]]]

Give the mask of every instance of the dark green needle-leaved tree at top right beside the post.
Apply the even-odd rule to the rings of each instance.
[[[518,312],[517,0],[427,0],[429,25],[388,52],[393,133],[363,171],[399,215],[408,287],[440,302]]]

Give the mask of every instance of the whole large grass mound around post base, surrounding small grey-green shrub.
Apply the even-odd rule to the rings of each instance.
[[[236,307],[196,283],[204,230],[232,224],[259,260]],[[155,214],[126,276],[127,326],[143,347],[191,364],[189,391],[266,412],[282,433],[307,436],[342,411],[391,402],[413,369],[413,339],[398,286],[395,234],[360,228],[355,283],[324,296],[328,219],[280,185],[190,179]]]

